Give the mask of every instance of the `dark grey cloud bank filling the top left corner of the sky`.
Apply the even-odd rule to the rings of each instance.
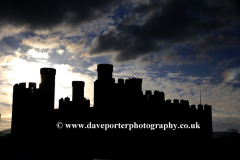
[[[63,22],[76,25],[102,18],[114,0],[8,0],[0,2],[0,22],[30,29],[52,29]]]

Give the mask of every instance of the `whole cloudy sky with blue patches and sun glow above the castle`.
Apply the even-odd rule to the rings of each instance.
[[[56,72],[55,108],[85,81],[93,106],[97,64],[143,79],[143,91],[212,105],[213,130],[240,131],[240,1],[0,2],[0,131],[11,127],[16,83]],[[114,106],[114,104],[113,104]]]

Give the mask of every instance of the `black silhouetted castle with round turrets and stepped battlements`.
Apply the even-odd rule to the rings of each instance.
[[[59,100],[54,109],[55,75],[53,68],[41,68],[41,83],[15,84],[13,87],[11,134],[16,142],[44,143],[46,152],[78,150],[81,153],[132,156],[157,154],[165,150],[182,153],[212,142],[211,105],[189,105],[188,100],[165,100],[164,92],[142,91],[142,79],[112,78],[113,65],[99,64],[94,82],[94,106],[84,97],[85,83],[72,82],[72,101]],[[63,124],[191,124],[195,129],[59,129]],[[73,147],[76,144],[78,147]],[[164,146],[160,149],[158,146]],[[56,149],[57,148],[57,149]],[[195,148],[196,149],[196,148]],[[133,152],[135,151],[135,152]],[[137,152],[137,153],[136,153]],[[192,150],[192,152],[194,152]]]

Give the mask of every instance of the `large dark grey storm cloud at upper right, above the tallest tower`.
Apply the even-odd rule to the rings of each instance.
[[[229,30],[239,34],[239,7],[234,0],[142,3],[115,29],[95,38],[90,56],[117,52],[115,61],[126,62],[171,49],[176,54],[188,50],[188,60],[205,60],[217,46],[237,45]]]

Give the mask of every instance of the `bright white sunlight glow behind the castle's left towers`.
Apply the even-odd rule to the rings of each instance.
[[[35,51],[30,53],[38,54]],[[28,87],[29,82],[36,82],[37,88],[39,88],[39,83],[41,82],[40,68],[50,67],[49,64],[41,62],[27,62],[26,60],[8,56],[5,58],[1,64],[1,67],[7,67],[8,70],[2,71],[2,79],[6,79],[7,83],[11,85],[9,87],[4,86],[2,91],[7,93],[13,92],[13,85],[16,83],[26,83]],[[57,70],[55,76],[55,108],[58,108],[58,103],[60,98],[71,97],[72,96],[72,81],[85,81],[85,97],[91,99],[91,104],[93,103],[93,95],[90,82],[92,82],[91,77],[82,75],[80,73],[73,73],[72,67],[69,65],[53,65],[52,68]],[[89,90],[89,91],[88,91]],[[7,104],[12,103],[12,97],[6,96],[4,99],[0,99],[1,102]],[[91,105],[92,106],[92,105]],[[10,113],[8,113],[9,115]]]

